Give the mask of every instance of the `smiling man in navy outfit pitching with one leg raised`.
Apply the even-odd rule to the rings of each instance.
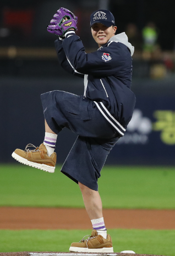
[[[135,96],[130,87],[134,47],[125,33],[115,35],[117,27],[108,10],[91,14],[91,33],[99,45],[93,53],[85,53],[83,43],[75,34],[76,24],[77,17],[72,12],[59,8],[47,30],[58,35],[55,46],[63,69],[84,79],[84,95],[64,91],[43,93],[45,139],[40,147],[28,144],[25,150],[16,149],[12,156],[20,163],[53,173],[57,135],[64,127],[76,133],[78,137],[61,171],[79,185],[93,230],[89,238],[72,243],[69,250],[112,253],[97,180],[107,155],[124,135],[132,118]]]

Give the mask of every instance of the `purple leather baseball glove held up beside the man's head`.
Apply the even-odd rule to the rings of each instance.
[[[64,36],[65,32],[70,28],[77,30],[77,19],[78,18],[75,17],[72,12],[61,7],[58,9],[57,13],[53,15],[53,19],[50,25],[48,25],[47,31],[58,36]]]

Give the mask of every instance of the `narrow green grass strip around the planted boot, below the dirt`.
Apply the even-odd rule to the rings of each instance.
[[[0,252],[68,252],[90,230],[0,230]],[[108,229],[114,252],[134,250],[139,254],[175,256],[175,230]]]

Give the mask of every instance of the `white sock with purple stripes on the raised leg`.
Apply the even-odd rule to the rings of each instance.
[[[45,133],[43,144],[46,146],[47,155],[51,156],[56,148],[57,134]]]

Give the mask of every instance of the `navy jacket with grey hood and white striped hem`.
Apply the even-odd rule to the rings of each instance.
[[[87,54],[75,34],[56,40],[55,46],[63,69],[84,78],[84,97],[94,101],[103,117],[123,136],[135,106],[135,95],[130,90],[134,47],[127,35],[114,35],[97,51]]]

